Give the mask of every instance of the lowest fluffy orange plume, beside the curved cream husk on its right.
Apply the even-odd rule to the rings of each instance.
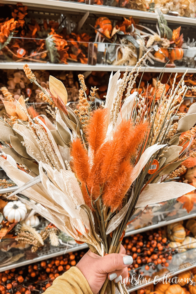
[[[133,166],[129,160],[123,160],[118,170],[118,175],[113,178],[113,181],[105,184],[103,192],[103,204],[107,207],[117,208],[120,206],[125,194],[130,187],[130,175],[133,171]]]

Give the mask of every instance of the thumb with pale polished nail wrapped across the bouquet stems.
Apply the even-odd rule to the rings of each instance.
[[[100,273],[110,273],[115,270],[122,270],[133,263],[132,256],[122,253],[110,253],[105,255],[97,261],[97,270]]]

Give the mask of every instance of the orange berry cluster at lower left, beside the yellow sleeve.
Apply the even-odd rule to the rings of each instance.
[[[84,254],[84,252],[71,252],[22,268],[6,270],[0,273],[0,294],[43,293],[52,285],[55,278],[76,265]]]

